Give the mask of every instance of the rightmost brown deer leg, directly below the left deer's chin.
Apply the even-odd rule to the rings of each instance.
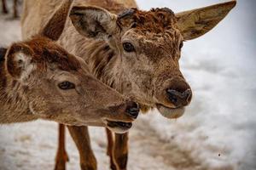
[[[128,133],[115,134],[113,154],[119,170],[126,170],[128,161]]]

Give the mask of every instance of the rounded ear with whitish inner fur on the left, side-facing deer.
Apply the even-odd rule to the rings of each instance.
[[[13,44],[5,55],[6,70],[11,77],[21,82],[26,82],[26,78],[34,70],[32,64],[32,48],[23,43]]]

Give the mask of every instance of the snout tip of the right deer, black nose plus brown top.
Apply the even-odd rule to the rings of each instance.
[[[167,98],[176,107],[189,105],[192,91],[187,82],[175,82],[171,88],[166,89]]]

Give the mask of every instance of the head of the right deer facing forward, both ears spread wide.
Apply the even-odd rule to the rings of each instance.
[[[117,54],[116,65],[126,83],[125,88],[119,87],[123,94],[176,118],[192,99],[178,63],[183,42],[210,31],[235,5],[231,1],[179,14],[169,8],[129,8],[119,15],[75,6],[70,17],[80,34],[108,42]]]

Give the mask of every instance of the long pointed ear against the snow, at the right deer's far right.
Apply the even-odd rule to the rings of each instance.
[[[175,14],[177,26],[183,34],[185,40],[201,37],[207,31],[212,30],[219,21],[236,6],[236,0],[219,3],[206,8],[196,8],[190,11]]]

